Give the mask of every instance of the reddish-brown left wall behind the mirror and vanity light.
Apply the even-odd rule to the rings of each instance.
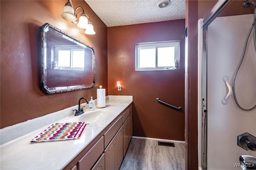
[[[78,104],[80,97],[96,99],[99,85],[108,88],[107,28],[82,0],[95,35],[61,18],[66,0],[1,0],[1,128]],[[48,22],[96,52],[96,85],[92,89],[47,95],[39,89],[39,27]]]

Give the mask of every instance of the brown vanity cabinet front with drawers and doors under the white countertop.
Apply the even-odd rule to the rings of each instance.
[[[132,138],[132,105],[74,158],[65,170],[118,170]]]

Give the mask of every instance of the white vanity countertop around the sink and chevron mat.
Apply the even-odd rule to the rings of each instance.
[[[54,121],[41,128],[16,138],[9,142],[6,142],[0,146],[0,169],[1,170],[56,170],[63,169],[69,162],[71,162],[90,142],[104,130],[126,107],[132,103],[132,97],[118,98],[118,96],[110,97],[110,100],[106,101],[106,107],[97,110],[108,110],[108,116],[104,116],[104,119],[100,119],[94,122],[89,122],[85,128],[80,139],[76,140],[63,140],[55,142],[42,142],[42,143],[30,143],[32,138],[40,134],[49,125],[54,122],[67,123],[81,121],[80,117],[84,114],[93,112],[88,110],[86,106],[85,113],[80,116],[72,115]],[[121,99],[121,100],[118,100]],[[131,99],[131,100],[130,100]],[[76,108],[77,109],[77,108]],[[70,110],[70,109],[69,109]],[[56,115],[55,115],[56,117]],[[48,118],[50,119],[49,115]],[[33,120],[31,120],[33,121]],[[25,123],[31,123],[25,122]],[[35,121],[40,121],[36,119]],[[24,124],[24,123],[21,123]],[[4,128],[5,131],[9,127]],[[20,130],[19,126],[10,127],[12,130]],[[15,129],[16,128],[16,129]],[[28,128],[28,126],[27,126]],[[30,126],[31,128],[31,126]],[[33,127],[32,127],[33,128]],[[2,129],[1,129],[2,130]],[[0,131],[1,132],[1,131]],[[1,138],[5,137],[4,133],[0,133]],[[11,135],[11,134],[10,134]]]

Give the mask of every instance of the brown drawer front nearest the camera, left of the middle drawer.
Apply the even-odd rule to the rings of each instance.
[[[94,146],[84,155],[84,157],[78,162],[79,170],[90,170],[93,164],[98,160],[102,152],[104,151],[104,138],[103,136],[98,140]]]

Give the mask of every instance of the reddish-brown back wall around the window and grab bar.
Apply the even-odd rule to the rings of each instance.
[[[133,135],[184,141],[185,20],[108,28],[108,94],[132,95]],[[180,70],[135,71],[135,43],[180,40]],[[116,81],[121,81],[122,91]]]

